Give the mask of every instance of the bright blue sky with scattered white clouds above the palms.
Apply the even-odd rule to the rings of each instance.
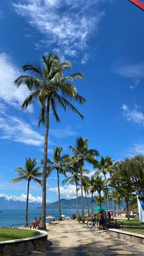
[[[43,158],[40,106],[21,110],[29,91],[16,89],[13,81],[21,75],[21,65],[49,52],[70,60],[71,73],[84,73],[84,81],[75,85],[87,100],[76,105],[84,121],[62,109],[60,123],[51,115],[49,158],[54,145],[70,153],[77,136],[87,137],[91,148],[115,160],[144,153],[143,15],[127,0],[1,0],[0,196],[26,200],[26,183],[9,181],[26,157]],[[57,200],[55,173],[47,183],[47,199]],[[31,202],[40,202],[39,186],[31,183],[30,193]],[[74,186],[63,186],[61,195],[74,197]]]

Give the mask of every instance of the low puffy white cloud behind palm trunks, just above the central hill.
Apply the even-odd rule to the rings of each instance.
[[[48,191],[58,194],[57,187],[49,188]],[[78,191],[78,196],[81,196],[81,191]],[[76,198],[76,186],[75,185],[60,186],[60,197],[64,199]]]

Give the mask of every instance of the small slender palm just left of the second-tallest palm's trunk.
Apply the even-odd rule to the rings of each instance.
[[[71,166],[67,165],[65,169],[65,172],[70,172],[70,176],[65,178],[65,180],[62,181],[63,184],[65,184],[67,181],[70,182],[71,185],[76,185],[76,208],[77,208],[77,215],[79,215],[79,204],[78,204],[78,186],[80,181],[80,174],[79,174],[79,166],[77,163],[72,164]]]

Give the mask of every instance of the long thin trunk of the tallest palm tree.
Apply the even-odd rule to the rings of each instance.
[[[45,142],[44,142],[44,156],[43,156],[43,195],[42,195],[42,210],[41,210],[41,221],[40,229],[46,229],[46,162],[48,159],[48,133],[49,133],[49,101],[47,101],[46,107],[46,129],[45,129]]]

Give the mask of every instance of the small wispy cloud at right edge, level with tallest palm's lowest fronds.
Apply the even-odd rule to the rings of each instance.
[[[136,109],[130,109],[125,104],[123,104],[122,109],[124,117],[126,117],[129,122],[144,125],[144,114],[142,112],[139,112]]]

